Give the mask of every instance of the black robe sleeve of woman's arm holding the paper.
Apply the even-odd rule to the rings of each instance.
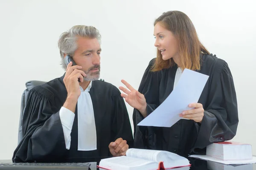
[[[217,60],[210,81],[204,117],[193,148],[194,153],[198,154],[213,142],[232,139],[239,122],[233,77],[224,60]]]

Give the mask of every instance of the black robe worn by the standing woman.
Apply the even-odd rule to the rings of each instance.
[[[147,114],[154,111],[172,92],[177,71],[175,65],[151,72],[154,62],[155,59],[152,59],[149,63],[138,90],[145,96]],[[198,101],[205,110],[201,124],[180,119],[172,127],[137,126],[143,116],[134,109],[134,147],[167,150],[182,156],[189,153],[205,154],[207,145],[230,140],[236,135],[239,122],[236,91],[227,63],[204,54],[198,72],[209,76]]]

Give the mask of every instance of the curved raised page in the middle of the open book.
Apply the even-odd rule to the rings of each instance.
[[[157,161],[157,155],[162,152],[161,150],[146,150],[131,148],[126,151],[126,156],[146,159],[149,161]]]

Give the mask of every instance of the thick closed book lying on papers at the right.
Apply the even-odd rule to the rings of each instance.
[[[252,145],[239,142],[218,142],[207,146],[206,155],[222,161],[252,159]]]

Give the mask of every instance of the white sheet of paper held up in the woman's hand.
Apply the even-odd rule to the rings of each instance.
[[[208,80],[207,75],[185,69],[179,82],[165,101],[143,119],[140,126],[171,127],[182,111],[189,110],[190,103],[197,103]],[[157,97],[157,96],[156,96]]]

